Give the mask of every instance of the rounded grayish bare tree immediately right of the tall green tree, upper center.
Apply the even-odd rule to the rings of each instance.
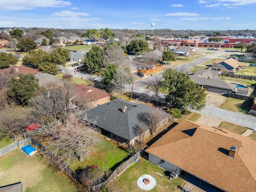
[[[108,45],[103,53],[103,63],[106,66],[109,63],[123,64],[128,62],[128,59],[124,58],[124,50],[118,46],[118,44]]]

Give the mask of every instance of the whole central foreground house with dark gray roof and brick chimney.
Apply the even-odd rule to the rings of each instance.
[[[137,104],[122,99],[115,99],[106,104],[92,108],[87,112],[87,118],[100,128],[101,133],[125,146],[133,145],[138,135],[135,128],[142,124],[139,115],[144,112],[156,110],[145,104]],[[158,112],[162,112],[159,111]],[[163,117],[166,115],[162,112]],[[166,116],[165,116],[166,117]],[[160,125],[167,124],[168,117],[160,121]],[[149,135],[149,130],[146,130]]]

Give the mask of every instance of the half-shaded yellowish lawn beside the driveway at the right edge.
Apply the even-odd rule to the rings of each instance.
[[[252,107],[252,102],[234,99],[234,98],[227,98],[225,102],[221,105],[222,109],[240,112],[243,114],[248,114]]]

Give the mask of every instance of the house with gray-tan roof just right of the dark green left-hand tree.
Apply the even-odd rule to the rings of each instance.
[[[49,73],[37,73],[35,77],[38,79],[38,84],[41,87],[48,87],[51,84],[63,86],[63,82],[60,78]]]

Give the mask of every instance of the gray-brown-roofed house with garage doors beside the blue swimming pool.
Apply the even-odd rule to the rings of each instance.
[[[248,96],[250,88],[245,86],[238,86],[238,84],[226,82],[217,79],[217,75],[222,72],[216,70],[199,69],[195,74],[191,75],[190,78],[196,84],[202,86],[209,92],[214,93],[229,93],[230,91],[236,92],[236,94]]]

